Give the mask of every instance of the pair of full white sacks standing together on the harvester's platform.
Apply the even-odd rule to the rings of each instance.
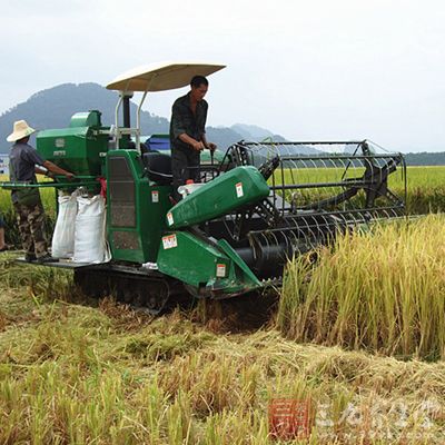
[[[100,195],[86,197],[76,190],[71,195],[60,195],[58,202],[52,256],[75,263],[109,261],[105,199]]]

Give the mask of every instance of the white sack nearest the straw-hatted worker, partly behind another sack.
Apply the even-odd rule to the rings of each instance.
[[[55,258],[72,258],[75,254],[75,228],[77,215],[77,195],[58,197],[59,212],[52,234],[51,255]]]

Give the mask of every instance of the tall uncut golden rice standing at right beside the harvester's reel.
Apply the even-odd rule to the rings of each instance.
[[[290,263],[277,324],[300,342],[445,357],[441,215],[338,237],[316,264]]]

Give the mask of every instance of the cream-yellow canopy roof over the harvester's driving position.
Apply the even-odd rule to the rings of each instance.
[[[165,91],[190,85],[194,76],[209,76],[225,65],[200,62],[160,62],[135,68],[107,85],[109,90]]]

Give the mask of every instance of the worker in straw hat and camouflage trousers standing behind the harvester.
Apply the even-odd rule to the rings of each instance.
[[[9,155],[10,179],[13,182],[37,184],[36,174],[63,175],[72,179],[73,174],[59,168],[49,160],[44,160],[28,141],[36,132],[26,120],[18,120],[13,131],[8,136],[8,142],[13,142]],[[43,229],[44,211],[38,188],[24,187],[12,190],[12,204],[17,214],[17,221],[27,261],[52,263],[57,261],[48,253],[48,243]]]

